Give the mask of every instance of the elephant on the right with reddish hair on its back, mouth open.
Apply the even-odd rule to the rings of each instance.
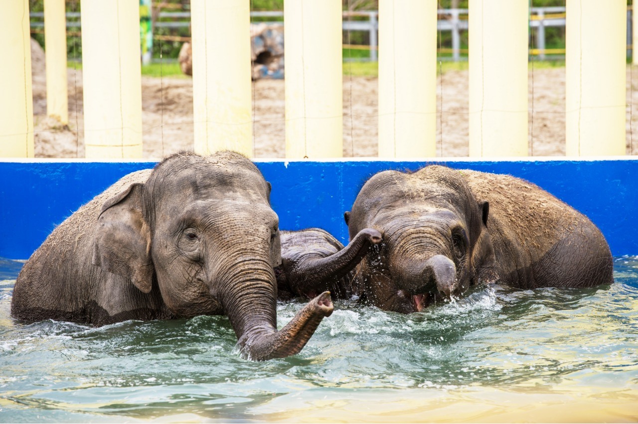
[[[422,311],[472,284],[513,288],[611,284],[609,245],[590,219],[510,175],[430,165],[373,175],[345,212],[350,237],[383,241],[357,269],[366,301]]]

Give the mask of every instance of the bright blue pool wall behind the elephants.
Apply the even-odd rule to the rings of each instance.
[[[27,259],[78,207],[127,173],[157,161],[0,159],[0,257]],[[343,212],[382,170],[426,164],[507,173],[529,180],[576,208],[602,230],[614,256],[638,254],[638,160],[256,161],[272,184],[271,204],[283,230],[323,228],[348,242]],[[492,205],[498,207],[498,205]]]

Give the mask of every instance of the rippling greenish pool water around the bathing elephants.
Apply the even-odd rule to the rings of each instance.
[[[0,422],[638,420],[638,257],[600,288],[482,287],[411,315],[336,302],[268,362],[225,317],[16,323],[20,265],[0,260]],[[301,307],[279,304],[279,327]]]

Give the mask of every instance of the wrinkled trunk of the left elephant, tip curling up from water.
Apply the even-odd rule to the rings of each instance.
[[[256,361],[299,353],[333,309],[330,293],[322,293],[277,331],[275,277],[272,268],[265,265],[243,263],[242,268],[246,271],[226,284],[228,289],[222,298],[241,350]]]

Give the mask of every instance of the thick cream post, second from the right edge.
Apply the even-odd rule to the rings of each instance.
[[[470,156],[528,154],[528,0],[470,0]]]

